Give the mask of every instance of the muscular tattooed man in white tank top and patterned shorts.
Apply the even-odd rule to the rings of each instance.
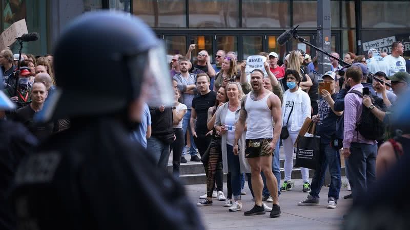
[[[245,216],[265,214],[262,204],[263,181],[262,171],[267,178],[267,186],[273,198],[270,216],[278,217],[277,180],[272,173],[272,155],[279,140],[282,128],[282,109],[279,98],[263,87],[263,72],[255,69],[251,73],[252,91],[242,98],[240,117],[236,124],[234,154],[238,154],[238,140],[247,123],[245,157],[251,166],[252,189],[255,195],[255,206],[244,213]],[[272,127],[272,121],[275,127]],[[273,131],[274,130],[274,131]]]

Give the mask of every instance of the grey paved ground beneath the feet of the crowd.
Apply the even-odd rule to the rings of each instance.
[[[301,179],[292,181],[295,182],[293,190],[282,192],[279,196],[279,206],[282,214],[278,218],[270,218],[269,213],[256,216],[243,215],[243,212],[252,209],[254,205],[246,182],[244,191],[247,192],[247,195],[242,195],[242,211],[229,212],[229,208],[223,206],[224,201],[218,201],[217,199],[213,200],[213,205],[197,207],[197,210],[207,229],[340,229],[343,215],[352,204],[352,200],[345,200],[343,196],[350,194],[350,192],[346,188],[341,188],[336,209],[326,209],[327,192],[329,192],[327,187],[323,187],[320,192],[320,205],[298,206],[297,203],[304,200],[309,193],[301,192]],[[346,177],[342,177],[342,184],[346,181]],[[226,183],[223,186],[224,194],[227,195]],[[199,196],[205,194],[206,191],[206,185],[188,185],[185,188],[189,200],[194,205],[200,201]],[[265,203],[272,207],[272,203]]]

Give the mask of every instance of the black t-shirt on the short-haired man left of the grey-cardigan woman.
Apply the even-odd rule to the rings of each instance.
[[[210,91],[206,95],[198,95],[192,100],[192,108],[196,112],[196,132],[206,134],[208,131],[208,109],[215,105],[216,93]]]

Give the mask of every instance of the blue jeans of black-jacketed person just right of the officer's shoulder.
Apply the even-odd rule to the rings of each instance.
[[[159,168],[166,169],[170,157],[170,145],[159,141],[155,136],[147,140],[147,152],[151,154]]]

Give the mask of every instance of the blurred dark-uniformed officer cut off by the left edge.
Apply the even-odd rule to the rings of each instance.
[[[9,199],[10,186],[18,163],[37,141],[23,124],[6,121],[4,111],[15,104],[3,93],[3,74],[0,73],[0,229],[15,229],[15,215]]]

